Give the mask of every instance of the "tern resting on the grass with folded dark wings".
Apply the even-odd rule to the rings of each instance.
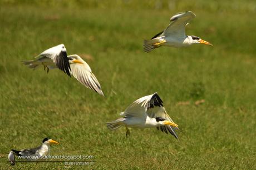
[[[42,141],[42,145],[32,149],[22,149],[21,151],[16,151],[12,149],[12,151],[17,154],[17,156],[35,156],[35,157],[42,157],[48,154],[50,150],[50,144],[59,144],[56,141],[53,141],[50,138],[45,138]]]

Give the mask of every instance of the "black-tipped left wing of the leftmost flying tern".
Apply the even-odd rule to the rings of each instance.
[[[64,73],[70,76],[70,63],[67,58],[67,51],[64,44],[47,49],[36,58],[43,59],[43,57],[51,58],[56,66]]]

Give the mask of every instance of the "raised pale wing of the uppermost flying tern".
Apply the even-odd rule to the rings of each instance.
[[[184,37],[185,35],[185,26],[195,18],[195,14],[191,11],[181,12],[175,14],[175,16],[170,18],[170,25],[165,29],[161,36],[171,36],[171,37]]]

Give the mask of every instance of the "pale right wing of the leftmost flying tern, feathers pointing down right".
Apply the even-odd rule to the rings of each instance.
[[[81,63],[70,64],[72,75],[85,87],[90,88],[93,91],[104,96],[104,93],[101,90],[100,83],[92,73],[90,66],[85,61],[83,61],[81,57],[77,56],[76,54],[70,55],[68,56],[68,58],[71,58],[73,56],[77,57],[79,61],[82,62],[82,64]]]

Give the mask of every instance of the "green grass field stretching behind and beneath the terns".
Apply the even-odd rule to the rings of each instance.
[[[60,142],[52,146],[53,155],[94,156],[95,164],[83,168],[256,168],[254,1],[230,6],[229,1],[176,1],[171,9],[155,9],[154,1],[15,2],[0,2],[2,169],[11,167],[10,149],[38,146],[45,137]],[[197,17],[187,34],[213,47],[142,51],[143,39],[164,29],[173,14],[188,10]],[[22,65],[60,43],[68,54],[93,57],[86,61],[105,98],[61,71],[46,74]],[[179,124],[179,141],[156,129],[132,129],[127,139],[125,128],[106,128],[130,103],[154,92]],[[205,102],[196,106],[200,99]],[[82,167],[18,162],[12,168]]]

